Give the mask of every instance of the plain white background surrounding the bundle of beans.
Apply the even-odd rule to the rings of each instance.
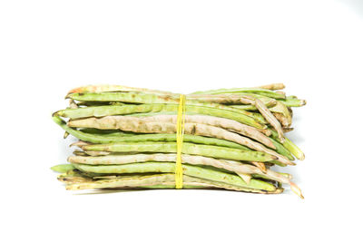
[[[362,1],[1,1],[2,241],[362,241]],[[172,92],[284,82],[305,200],[213,190],[81,194],[51,113],[90,83]],[[89,192],[92,193],[92,192]]]

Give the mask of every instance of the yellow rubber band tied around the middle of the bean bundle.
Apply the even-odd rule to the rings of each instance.
[[[176,123],[176,163],[175,163],[175,189],[182,189],[182,140],[185,126],[185,95],[179,98],[178,118]]]

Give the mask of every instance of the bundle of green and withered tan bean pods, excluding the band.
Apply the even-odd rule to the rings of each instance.
[[[281,193],[282,184],[302,197],[287,173],[304,154],[285,132],[291,107],[305,105],[276,91],[275,83],[186,95],[182,144],[183,189]],[[53,119],[79,141],[68,164],[54,166],[66,189],[172,189],[177,159],[180,95],[121,85],[71,90],[67,109]],[[295,158],[294,158],[295,157]]]

